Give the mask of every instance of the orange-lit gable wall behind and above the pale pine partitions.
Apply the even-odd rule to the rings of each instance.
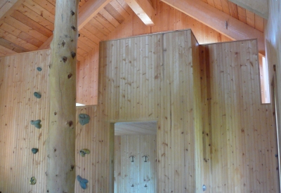
[[[197,41],[200,44],[230,41],[230,39],[222,34],[216,32],[214,29],[207,27],[207,25],[190,18],[188,15],[171,8],[167,4],[159,0],[152,0],[153,7],[155,8],[155,26],[148,27],[138,18],[135,13],[131,13],[129,18],[126,18],[114,32],[107,36],[107,40],[127,38],[130,36],[137,36],[141,34],[152,34],[156,32],[174,31],[179,29],[192,29]],[[131,9],[129,8],[129,11]],[[85,68],[85,69],[84,69]],[[80,62],[77,69],[77,102],[85,105],[96,105],[98,98],[98,84],[96,81],[96,73],[98,72],[98,48],[93,49],[85,60]],[[89,74],[88,72],[93,72]],[[89,89],[89,85],[93,89]],[[79,91],[79,92],[78,92]],[[86,95],[84,93],[91,93]]]

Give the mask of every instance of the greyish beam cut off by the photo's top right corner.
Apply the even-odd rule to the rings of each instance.
[[[242,8],[256,13],[268,20],[268,1],[266,0],[229,0]]]

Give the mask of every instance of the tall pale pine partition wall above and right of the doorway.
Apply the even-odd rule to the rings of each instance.
[[[159,192],[195,191],[191,36],[187,30],[100,44],[98,128],[106,133],[110,123],[158,121]],[[99,189],[107,187],[99,182]]]

